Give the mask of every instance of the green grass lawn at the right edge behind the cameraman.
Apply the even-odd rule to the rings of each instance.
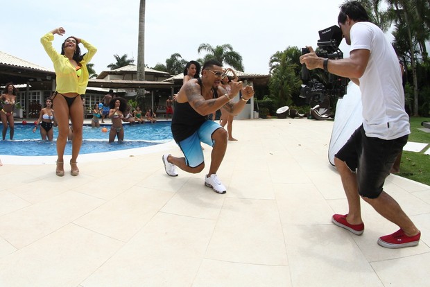
[[[415,143],[430,143],[430,132],[418,130],[422,127],[423,121],[429,121],[429,118],[411,117],[411,134],[408,141]],[[424,155],[429,150],[430,145],[426,146],[420,153],[404,151],[402,153],[402,162],[400,164],[400,173],[397,175],[406,177],[415,182],[430,185],[430,155]]]

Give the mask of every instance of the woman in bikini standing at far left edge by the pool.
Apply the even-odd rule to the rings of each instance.
[[[14,87],[12,82],[8,82],[4,88],[3,94],[0,96],[1,107],[0,118],[3,123],[3,141],[6,139],[9,125],[9,137],[12,140],[15,132],[15,125],[13,123],[13,108],[15,101],[17,101],[18,90]]]

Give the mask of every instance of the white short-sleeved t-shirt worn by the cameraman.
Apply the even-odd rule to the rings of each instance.
[[[370,58],[360,80],[363,128],[368,137],[397,139],[410,134],[404,110],[402,71],[393,46],[379,27],[357,22],[351,27],[351,51],[370,50]]]

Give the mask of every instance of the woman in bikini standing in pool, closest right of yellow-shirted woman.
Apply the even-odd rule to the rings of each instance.
[[[124,140],[124,129],[123,119],[124,114],[127,112],[127,101],[125,98],[113,98],[110,101],[109,118],[112,119],[112,125],[109,132],[109,142],[115,141],[115,137],[118,137],[118,141]]]

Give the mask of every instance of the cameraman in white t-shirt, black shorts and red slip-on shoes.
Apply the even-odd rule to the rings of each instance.
[[[368,21],[368,14],[359,2],[343,4],[338,24],[346,43],[351,45],[350,58],[319,58],[311,47],[309,54],[300,57],[300,63],[308,69],[320,68],[351,78],[361,89],[363,124],[334,159],[349,211],[346,215],[334,214],[332,222],[361,235],[364,231],[361,196],[381,216],[400,227],[397,232],[380,237],[379,245],[388,248],[418,245],[420,231],[383,190],[390,168],[410,133],[397,56],[381,29]]]

